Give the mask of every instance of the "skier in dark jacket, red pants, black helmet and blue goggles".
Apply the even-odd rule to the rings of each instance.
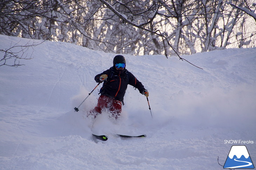
[[[108,70],[97,74],[95,81],[97,83],[103,82],[100,89],[100,97],[97,106],[89,111],[89,115],[97,116],[103,109],[108,109],[110,117],[117,119],[122,111],[123,97],[127,89],[127,85],[137,88],[141,94],[148,97],[148,90],[144,88],[142,83],[130,73],[126,68],[126,60],[122,55],[117,55],[113,59],[113,67]]]

